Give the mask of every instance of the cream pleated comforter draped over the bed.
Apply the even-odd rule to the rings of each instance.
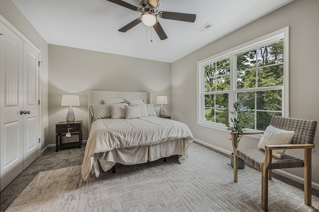
[[[84,180],[97,161],[96,153],[113,149],[159,144],[173,139],[186,139],[186,149],[193,141],[188,126],[155,116],[139,119],[98,119],[92,123],[82,164]],[[98,177],[99,167],[94,167]]]

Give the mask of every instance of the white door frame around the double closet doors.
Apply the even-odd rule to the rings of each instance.
[[[17,28],[15,28],[9,21],[7,21],[1,14],[0,14],[0,21],[6,26],[8,27],[14,34],[16,34],[19,38],[22,39],[23,42],[25,42],[26,44],[28,44],[29,46],[31,46],[37,53],[38,53],[38,58],[39,58],[39,63],[41,63],[41,51],[38,47],[36,47],[27,37],[25,37]],[[42,131],[41,131],[41,65],[39,65],[39,69],[38,69],[38,88],[39,88],[39,96],[38,96],[38,100],[40,101],[40,105],[39,105],[39,114],[38,114],[38,118],[39,118],[39,138],[40,138],[40,143],[38,143],[38,157],[41,156],[41,146],[42,146]]]

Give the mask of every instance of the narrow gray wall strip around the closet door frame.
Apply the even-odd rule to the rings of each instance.
[[[48,145],[48,44],[11,0],[0,0],[0,14],[41,50],[41,148]]]

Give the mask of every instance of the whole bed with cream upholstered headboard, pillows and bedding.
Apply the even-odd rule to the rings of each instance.
[[[141,164],[172,155],[178,155],[179,163],[187,160],[187,148],[194,139],[190,129],[158,117],[152,99],[149,92],[88,91],[84,180],[90,173],[98,177],[100,168],[106,172],[117,163]]]

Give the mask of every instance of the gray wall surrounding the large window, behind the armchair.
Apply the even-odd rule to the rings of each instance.
[[[230,134],[197,125],[196,62],[270,32],[290,26],[290,116],[319,121],[319,0],[295,0],[286,6],[222,37],[221,39],[172,63],[172,118],[185,122],[194,137],[225,152],[232,151]],[[213,30],[213,29],[212,29]],[[243,137],[239,148],[256,147],[258,139]],[[313,182],[319,185],[319,127],[313,158]],[[303,150],[287,153],[303,158]],[[303,178],[303,169],[285,171]],[[240,181],[240,179],[239,179]]]

